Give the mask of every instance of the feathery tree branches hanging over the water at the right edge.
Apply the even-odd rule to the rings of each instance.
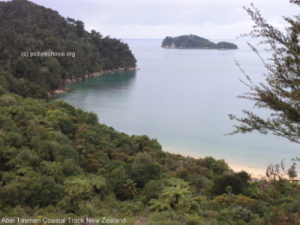
[[[299,20],[297,17],[284,17],[288,26],[285,28],[285,32],[282,32],[268,24],[253,4],[251,8],[245,7],[245,10],[254,21],[255,26],[249,34],[242,36],[262,38],[261,44],[269,46],[268,51],[272,53],[272,56],[271,63],[267,63],[257,49],[249,44],[252,50],[259,55],[268,71],[267,74],[264,74],[266,83],[254,84],[249,75],[242,70],[246,76],[246,81],[243,83],[250,88],[251,92],[245,93],[239,98],[252,100],[255,102],[255,107],[269,109],[271,113],[268,118],[262,118],[247,110],[243,110],[246,115],[244,118],[229,115],[230,119],[239,122],[231,134],[256,130],[262,134],[272,133],[300,143]]]

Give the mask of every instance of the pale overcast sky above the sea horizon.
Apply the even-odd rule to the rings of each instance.
[[[274,26],[299,13],[289,0],[32,0],[64,17],[82,20],[87,30],[114,38],[154,38],[195,34],[234,39],[253,25],[243,6],[254,3]]]

